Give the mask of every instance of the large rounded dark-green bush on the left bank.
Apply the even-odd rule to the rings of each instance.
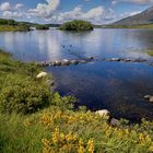
[[[49,87],[31,78],[19,74],[7,76],[0,92],[2,113],[28,114],[49,106],[52,94]]]

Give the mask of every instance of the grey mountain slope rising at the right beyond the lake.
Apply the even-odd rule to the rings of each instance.
[[[137,15],[117,21],[111,25],[130,26],[130,25],[151,24],[151,23],[153,23],[153,7],[146,9],[145,11]]]

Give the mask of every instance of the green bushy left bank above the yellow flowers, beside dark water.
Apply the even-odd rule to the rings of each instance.
[[[22,63],[10,57],[10,54],[0,51],[0,111],[30,114],[48,107],[60,106],[66,109],[75,99],[73,97],[61,97],[51,92],[47,80],[36,80],[40,68],[35,63]]]

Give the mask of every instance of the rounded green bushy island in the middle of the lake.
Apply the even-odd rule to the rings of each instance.
[[[67,22],[59,27],[62,31],[93,31],[93,25],[87,21],[74,20],[71,22]]]

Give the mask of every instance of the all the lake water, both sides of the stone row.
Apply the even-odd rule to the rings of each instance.
[[[55,61],[104,58],[153,58],[144,49],[153,48],[153,31],[94,30],[68,33],[57,30],[27,33],[0,33],[0,48],[23,61]],[[93,110],[108,109],[117,118],[153,119],[153,104],[143,96],[153,95],[153,67],[146,63],[95,61],[85,64],[46,68],[54,74],[61,95],[74,95],[79,105]]]

